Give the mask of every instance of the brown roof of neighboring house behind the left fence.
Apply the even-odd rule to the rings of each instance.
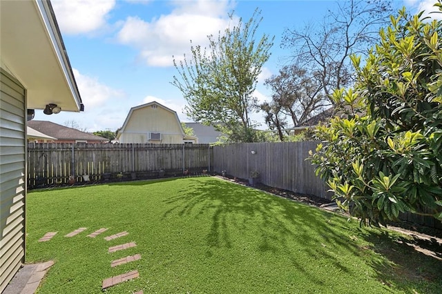
[[[109,141],[104,137],[99,137],[90,133],[81,132],[75,128],[68,128],[66,126],[60,126],[52,121],[28,121],[28,126],[38,130],[45,135],[55,137],[59,140],[71,140],[71,141]]]

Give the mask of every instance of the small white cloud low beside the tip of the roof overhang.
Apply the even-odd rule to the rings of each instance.
[[[73,73],[86,110],[103,106],[108,99],[123,95],[122,91],[110,88],[96,78],[81,75],[75,68],[73,68]]]

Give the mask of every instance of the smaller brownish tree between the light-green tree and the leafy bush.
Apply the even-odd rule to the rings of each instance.
[[[318,75],[296,65],[282,67],[279,75],[266,79],[265,85],[271,88],[273,94],[269,104],[271,107],[267,107],[265,103],[262,104],[262,110],[265,110],[267,117],[277,119],[276,122],[283,121],[281,113],[291,117],[293,126],[299,126],[327,105]],[[278,126],[274,127],[278,129],[278,133],[282,133]]]

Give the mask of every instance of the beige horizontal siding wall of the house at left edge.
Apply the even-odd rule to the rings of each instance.
[[[0,71],[0,293],[25,256],[26,91]]]

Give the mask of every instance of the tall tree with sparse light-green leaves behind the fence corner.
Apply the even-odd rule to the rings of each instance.
[[[233,22],[233,14],[230,14]],[[203,124],[219,126],[231,141],[256,139],[250,113],[258,108],[253,92],[262,65],[270,57],[273,38],[256,41],[262,17],[256,10],[247,23],[242,19],[218,38],[209,35],[209,48],[191,46],[191,58],[173,63],[178,77],[172,84],[180,89],[189,106],[186,114]]]

